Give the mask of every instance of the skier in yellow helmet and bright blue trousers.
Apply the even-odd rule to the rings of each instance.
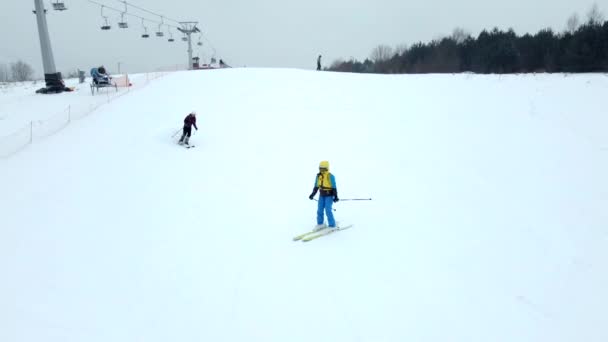
[[[336,177],[329,172],[329,162],[324,160],[319,163],[319,173],[315,178],[315,186],[308,199],[312,200],[319,191],[319,203],[317,206],[317,225],[315,230],[323,229],[326,226],[323,224],[324,216],[327,215],[327,223],[329,228],[336,228],[336,221],[332,212],[332,204],[338,202],[338,188],[336,187]]]

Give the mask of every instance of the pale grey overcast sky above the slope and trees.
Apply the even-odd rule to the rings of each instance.
[[[53,2],[56,0],[52,0]],[[186,64],[187,47],[155,37],[158,25],[147,22],[149,39],[142,39],[141,19],[127,16],[130,27],[119,29],[120,14],[105,11],[112,29],[103,24],[99,5],[88,0],[63,0],[69,8],[50,9],[47,20],[58,71],[89,70],[105,65],[116,72],[139,72]],[[123,8],[119,0],[95,0]],[[127,1],[179,21],[196,20],[203,46],[194,55],[203,61],[213,55],[233,66],[314,69],[337,58],[364,59],[379,44],[397,46],[449,35],[455,27],[477,35],[482,29],[513,28],[518,34],[550,27],[563,31],[568,17],[584,20],[597,3],[602,13],[608,0],[133,0]],[[0,63],[22,59],[41,76],[42,62],[34,0],[2,0]],[[159,20],[129,8],[129,12]],[[175,24],[175,23],[172,23]],[[167,28],[163,28],[167,32]],[[198,41],[198,36],[194,37]]]

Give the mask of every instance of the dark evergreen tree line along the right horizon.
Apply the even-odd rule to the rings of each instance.
[[[335,61],[326,70],[358,73],[530,73],[608,71],[608,21],[597,4],[580,22],[572,15],[563,32],[550,28],[517,35],[484,30],[477,37],[457,28],[449,37],[395,49],[379,45],[363,62]]]

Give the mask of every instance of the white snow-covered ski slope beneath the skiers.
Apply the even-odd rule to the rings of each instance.
[[[0,341],[604,342],[607,90],[171,73],[0,159]],[[0,127],[92,98],[8,96]],[[342,199],[373,200],[293,242],[321,160]]]

